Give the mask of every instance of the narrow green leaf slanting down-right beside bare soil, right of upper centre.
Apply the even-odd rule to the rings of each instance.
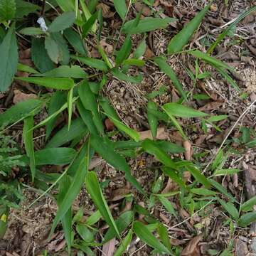
[[[181,94],[181,96],[185,100],[187,100],[186,93],[182,89],[181,82],[179,82],[179,80],[178,80],[178,78],[176,76],[176,73],[170,67],[170,65],[168,65],[168,63],[166,62],[166,58],[156,57],[156,58],[154,58],[154,63],[156,63],[156,65],[159,66],[160,70],[162,72],[164,72],[171,79],[171,81],[174,83],[174,86],[176,87],[178,92]]]

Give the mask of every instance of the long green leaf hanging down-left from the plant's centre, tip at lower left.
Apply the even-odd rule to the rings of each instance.
[[[85,149],[85,151],[82,149]],[[60,203],[60,206],[58,207],[57,213],[53,220],[53,225],[50,230],[49,237],[53,234],[59,221],[63,218],[65,213],[67,213],[68,209],[72,206],[73,201],[75,200],[76,196],[78,196],[78,193],[80,192],[82,184],[85,181],[85,176],[87,174],[89,161],[90,161],[90,146],[89,146],[89,144],[86,143],[82,147],[82,149],[80,150],[80,154],[82,154],[82,161],[80,162],[80,165],[79,165],[77,171],[75,172],[75,176],[70,184],[70,187],[67,189],[65,196],[63,197],[62,203]]]

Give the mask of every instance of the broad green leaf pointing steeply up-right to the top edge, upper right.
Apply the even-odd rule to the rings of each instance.
[[[171,41],[167,47],[169,54],[179,52],[184,46],[186,46],[191,36],[193,36],[193,33],[199,27],[209,7],[210,5],[206,6],[202,11],[196,14],[196,16],[191,21],[186,23],[186,25],[176,34],[176,36],[171,38]]]

